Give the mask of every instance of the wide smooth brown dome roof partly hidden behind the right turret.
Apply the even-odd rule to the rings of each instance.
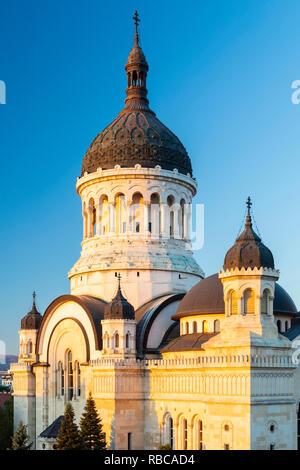
[[[225,313],[223,286],[218,274],[213,274],[195,284],[178,305],[173,320],[195,314]],[[274,313],[295,315],[297,308],[289,294],[275,283]]]

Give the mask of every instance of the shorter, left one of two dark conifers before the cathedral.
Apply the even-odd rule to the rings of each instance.
[[[75,423],[74,410],[71,403],[67,403],[64,419],[61,423],[56,439],[57,450],[81,450],[82,441],[78,426]]]

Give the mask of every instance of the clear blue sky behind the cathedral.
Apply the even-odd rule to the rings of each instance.
[[[205,205],[207,275],[222,267],[250,194],[280,283],[300,309],[299,0],[14,0],[1,4],[0,340],[69,292],[79,257],[83,155],[122,109],[141,16],[151,108],[187,148]]]

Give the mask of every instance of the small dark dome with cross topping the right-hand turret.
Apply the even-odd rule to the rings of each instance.
[[[260,237],[252,228],[250,215],[250,197],[248,198],[248,215],[246,217],[245,229],[236,239],[235,244],[227,251],[223,269],[234,268],[272,268],[274,269],[274,258],[272,252],[261,241]]]

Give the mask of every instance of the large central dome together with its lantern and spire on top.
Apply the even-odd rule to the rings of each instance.
[[[146,79],[148,64],[139,45],[136,31],[135,44],[125,66],[128,87],[125,108],[89,146],[83,162],[81,175],[97,168],[121,167],[154,168],[192,176],[192,166],[186,149],[180,140],[149,108]]]

